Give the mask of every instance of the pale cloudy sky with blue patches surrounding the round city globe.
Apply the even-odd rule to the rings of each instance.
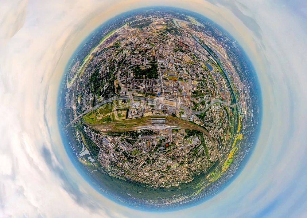
[[[116,204],[74,168],[57,126],[64,67],[107,19],[176,6],[227,30],[262,90],[261,131],[242,172],[197,206],[151,213]],[[0,217],[307,217],[307,4],[303,0],[0,2]]]

